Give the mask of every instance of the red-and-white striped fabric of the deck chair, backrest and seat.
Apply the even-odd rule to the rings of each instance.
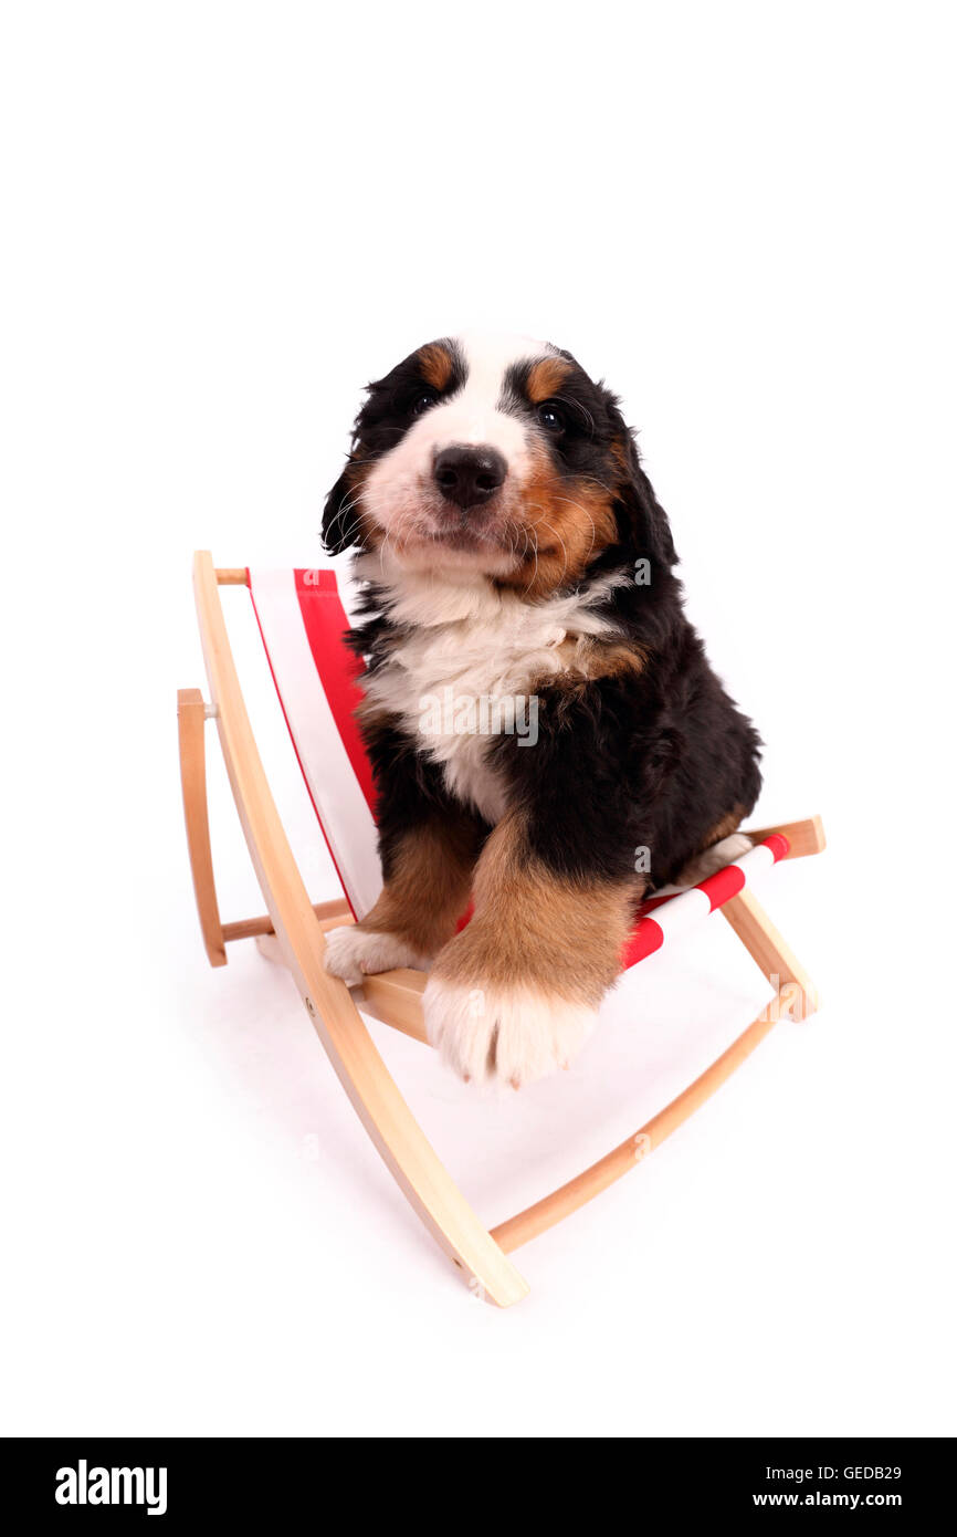
[[[372,768],[353,710],[361,662],[346,646],[349,590],[326,570],[249,572],[249,590],[303,778],[355,918],[382,890]],[[753,884],[788,851],[780,835],[676,895],[653,896],[625,945],[636,965]]]

